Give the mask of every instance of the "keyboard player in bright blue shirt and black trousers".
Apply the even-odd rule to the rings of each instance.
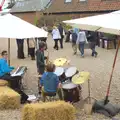
[[[0,58],[0,79],[7,80],[10,84],[10,87],[21,95],[21,103],[25,103],[28,99],[28,96],[20,90],[19,80],[21,79],[19,76],[12,77],[10,72],[14,69],[7,63],[7,51],[2,51],[2,58]]]

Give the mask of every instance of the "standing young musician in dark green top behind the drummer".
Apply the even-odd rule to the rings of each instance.
[[[42,75],[45,71],[45,56],[44,50],[46,49],[46,44],[44,42],[39,43],[39,49],[36,51],[36,62],[37,62],[37,70],[40,75]]]

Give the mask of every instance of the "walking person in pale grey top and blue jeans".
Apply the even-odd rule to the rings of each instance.
[[[76,44],[78,44],[79,50],[81,52],[81,57],[84,57],[84,46],[87,41],[85,31],[81,30],[78,33]]]

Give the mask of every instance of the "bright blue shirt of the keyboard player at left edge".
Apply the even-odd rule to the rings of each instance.
[[[6,73],[10,73],[14,67],[10,67],[7,63],[7,60],[4,58],[0,59],[0,77],[5,75]]]

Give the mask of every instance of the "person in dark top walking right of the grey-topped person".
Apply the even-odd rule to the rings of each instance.
[[[93,31],[89,31],[88,32],[88,41],[90,42],[90,48],[92,50],[92,57],[97,57],[98,53],[95,50],[96,47],[96,42],[98,39],[98,33],[97,32],[93,32]]]

